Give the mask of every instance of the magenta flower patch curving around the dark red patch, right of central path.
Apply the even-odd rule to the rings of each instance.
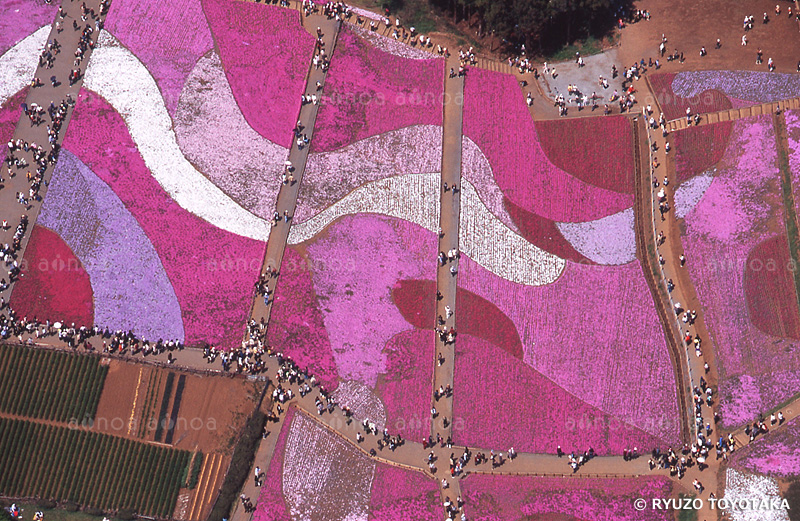
[[[503,194],[526,212],[580,222],[633,204],[631,195],[592,186],[550,162],[513,76],[470,71],[464,87],[464,135],[486,155]]]

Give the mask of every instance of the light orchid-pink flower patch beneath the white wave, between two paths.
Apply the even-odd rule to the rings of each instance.
[[[339,219],[305,246],[342,379],[374,387],[386,372],[384,346],[412,329],[392,301],[392,288],[398,280],[435,278],[435,239],[407,221],[357,215]]]

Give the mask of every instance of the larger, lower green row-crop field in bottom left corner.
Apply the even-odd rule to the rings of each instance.
[[[95,432],[0,419],[0,494],[172,514],[191,454]]]

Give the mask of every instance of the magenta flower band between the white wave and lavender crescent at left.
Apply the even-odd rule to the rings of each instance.
[[[220,230],[188,213],[153,179],[125,123],[83,92],[64,148],[108,183],[161,258],[181,306],[186,343],[241,343],[264,243]]]

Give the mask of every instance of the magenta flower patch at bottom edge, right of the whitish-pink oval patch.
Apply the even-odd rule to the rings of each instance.
[[[439,487],[419,472],[375,465],[370,521],[439,521],[442,517]]]

